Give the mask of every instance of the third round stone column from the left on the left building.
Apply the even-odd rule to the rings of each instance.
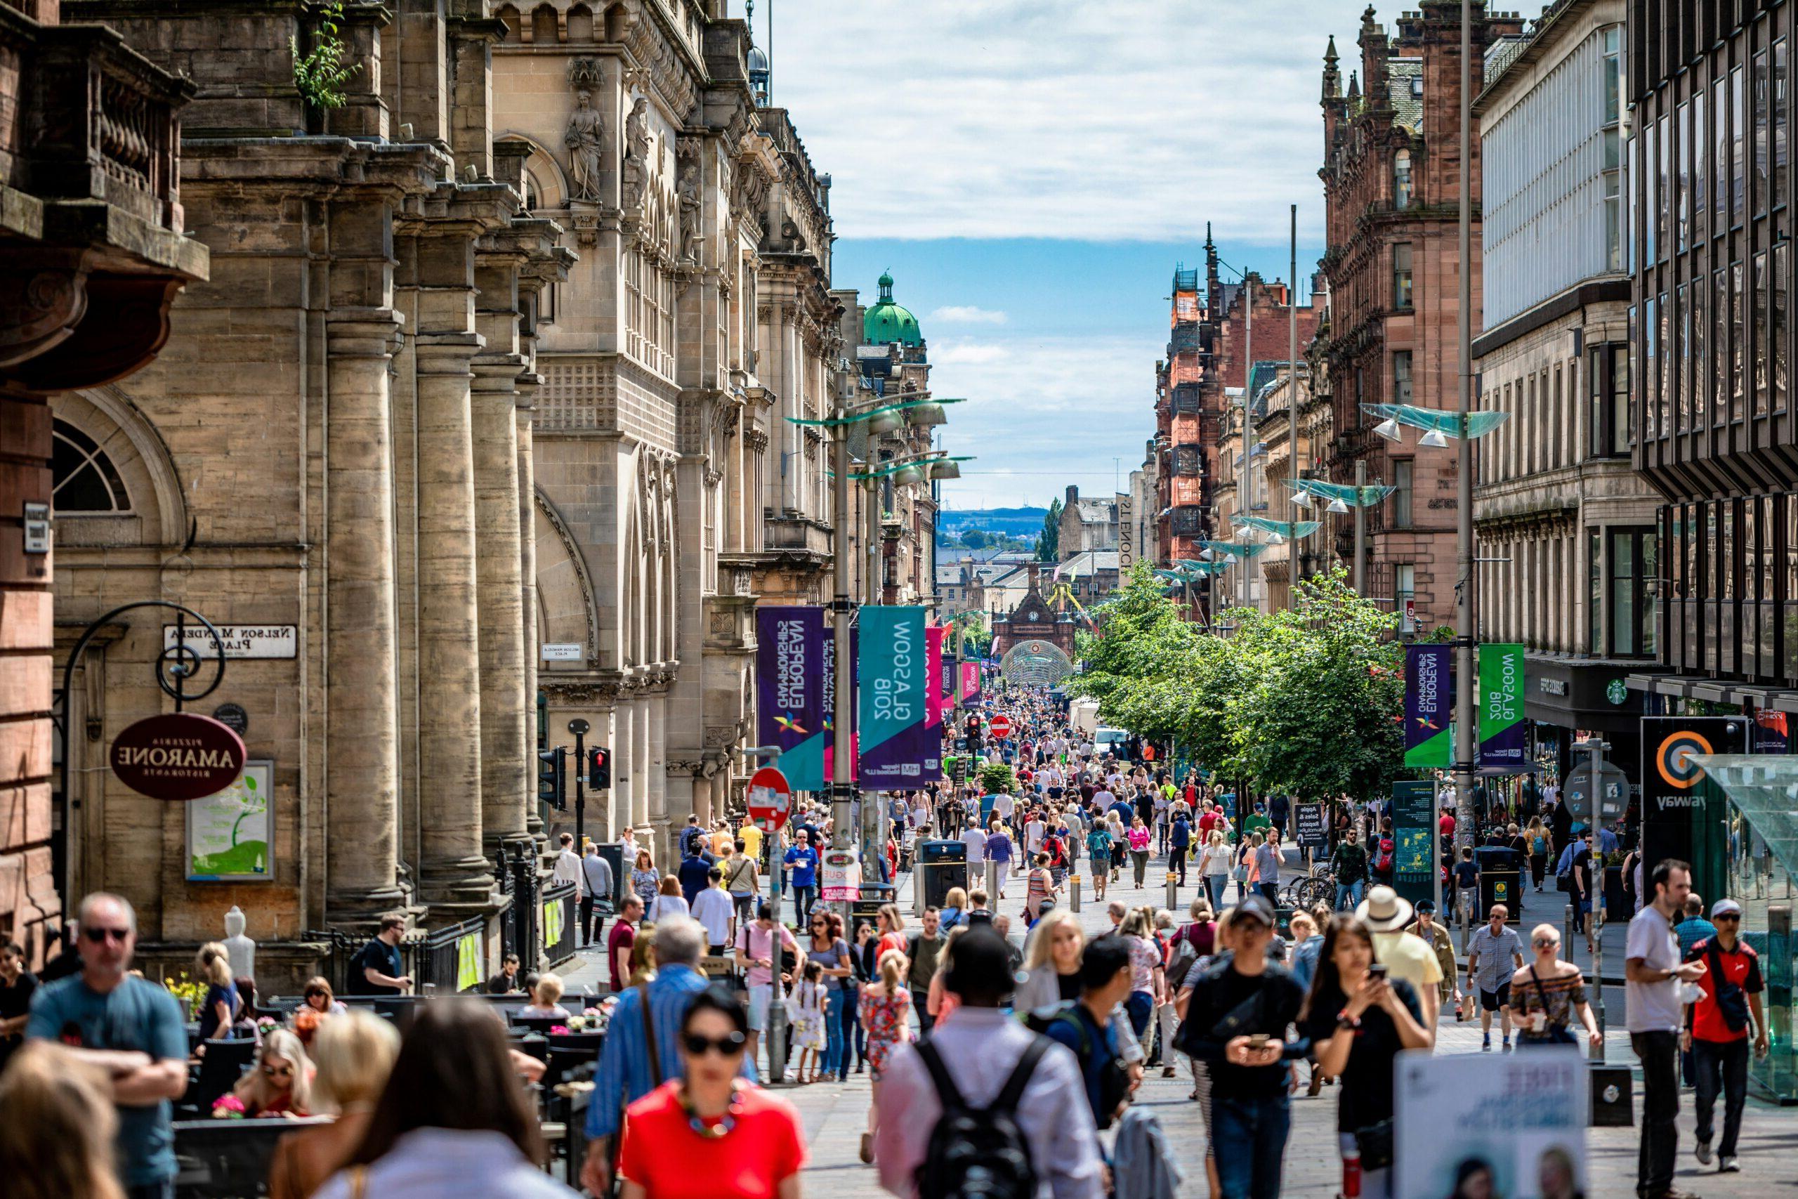
[[[532,795],[530,723],[536,692],[525,688],[525,613],[518,511],[520,360],[475,363],[475,577],[480,599],[480,827],[491,854],[527,836]]]

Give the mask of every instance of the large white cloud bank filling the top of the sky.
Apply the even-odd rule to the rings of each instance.
[[[1399,5],[1388,5],[1390,22]],[[773,99],[847,237],[1320,239],[1347,0],[782,0]],[[766,41],[762,14],[757,14]]]

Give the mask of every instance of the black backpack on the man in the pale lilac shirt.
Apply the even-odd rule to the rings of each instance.
[[[924,1147],[924,1161],[917,1167],[919,1199],[1036,1195],[1036,1165],[1030,1161],[1030,1143],[1018,1127],[1018,1100],[1048,1046],[1046,1037],[1034,1037],[992,1104],[969,1107],[930,1037],[917,1043],[917,1055],[930,1070],[942,1104],[942,1115]]]

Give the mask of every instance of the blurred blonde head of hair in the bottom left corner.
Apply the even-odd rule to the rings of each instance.
[[[0,1177],[13,1199],[124,1199],[113,1174],[106,1077],[49,1041],[27,1041],[0,1075]]]

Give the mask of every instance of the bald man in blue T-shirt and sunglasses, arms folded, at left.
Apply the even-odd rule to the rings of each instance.
[[[81,973],[40,987],[29,1041],[59,1041],[111,1080],[117,1154],[131,1199],[174,1195],[171,1102],[187,1091],[187,1030],[167,990],[126,971],[137,913],[117,895],[81,901]],[[68,949],[65,947],[65,953]]]

